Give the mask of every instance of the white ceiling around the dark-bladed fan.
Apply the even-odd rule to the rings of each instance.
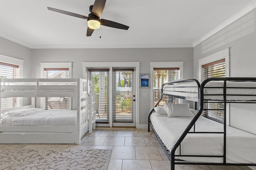
[[[103,26],[100,39],[86,37],[86,20],[47,10],[88,16],[94,0],[0,0],[0,36],[30,48],[193,47],[255,1],[107,0],[101,18],[130,28]]]

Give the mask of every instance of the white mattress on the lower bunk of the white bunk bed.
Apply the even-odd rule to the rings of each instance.
[[[2,126],[76,126],[76,110],[43,110],[24,116],[4,116]]]

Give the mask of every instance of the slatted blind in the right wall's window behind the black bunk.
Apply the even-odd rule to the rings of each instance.
[[[214,61],[212,63],[202,65],[201,80],[206,80],[212,77],[225,77],[225,59]],[[202,115],[214,119],[219,122],[224,121],[224,103],[204,103],[204,110]]]

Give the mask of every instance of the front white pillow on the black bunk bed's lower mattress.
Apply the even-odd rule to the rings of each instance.
[[[165,104],[165,109],[168,117],[194,117],[190,111],[189,104]]]

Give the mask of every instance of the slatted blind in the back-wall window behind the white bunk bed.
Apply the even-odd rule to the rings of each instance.
[[[44,68],[44,78],[69,78],[68,68]],[[69,109],[68,97],[44,98],[44,109]]]

